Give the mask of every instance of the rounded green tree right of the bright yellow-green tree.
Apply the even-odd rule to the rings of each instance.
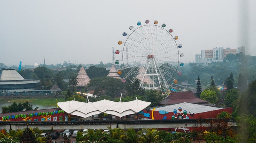
[[[231,107],[234,101],[238,99],[239,95],[240,93],[237,89],[229,89],[224,100],[225,105]]]

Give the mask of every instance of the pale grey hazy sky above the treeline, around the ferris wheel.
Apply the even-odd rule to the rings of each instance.
[[[174,30],[184,62],[214,47],[256,55],[255,0],[0,0],[0,63],[112,63],[136,22]]]

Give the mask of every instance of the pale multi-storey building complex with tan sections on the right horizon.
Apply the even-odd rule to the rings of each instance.
[[[227,54],[245,54],[245,47],[241,46],[237,49],[231,49],[223,47],[215,47],[212,50],[201,50],[201,55],[196,54],[196,63],[207,65],[214,62],[222,62],[225,59]]]

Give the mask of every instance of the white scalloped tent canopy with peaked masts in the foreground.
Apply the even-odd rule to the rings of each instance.
[[[78,101],[58,102],[58,106],[66,113],[84,118],[100,113],[122,117],[138,113],[150,104],[151,102],[138,99],[129,102],[114,102],[105,99],[88,103]]]

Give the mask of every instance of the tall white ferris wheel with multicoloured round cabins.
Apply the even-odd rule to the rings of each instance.
[[[118,41],[121,50],[115,51],[120,56],[115,63],[122,64],[118,70],[119,74],[123,71],[122,82],[133,84],[138,79],[145,89],[168,89],[177,83],[176,76],[181,75],[184,63],[180,62],[182,45],[177,42],[178,36],[172,36],[173,30],[165,23],[158,25],[156,20],[152,24],[145,20],[145,25],[138,21],[137,27],[130,26],[129,30],[123,32],[124,40]]]

